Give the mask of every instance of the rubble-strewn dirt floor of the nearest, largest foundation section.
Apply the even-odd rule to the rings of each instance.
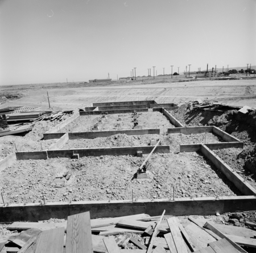
[[[133,156],[20,160],[1,172],[1,192],[6,203],[43,201],[163,199],[173,197],[236,196],[233,183],[199,153],[152,154],[149,179],[133,176],[146,158]],[[40,168],[40,169],[39,169]],[[55,187],[60,172],[71,171],[64,187]],[[99,173],[100,171],[100,173]]]

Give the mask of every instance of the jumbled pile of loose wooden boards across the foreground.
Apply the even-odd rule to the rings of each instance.
[[[0,252],[238,253],[247,252],[241,246],[256,247],[255,224],[247,229],[164,213],[90,220],[85,212],[60,223],[14,222],[7,228],[23,231],[0,241]]]

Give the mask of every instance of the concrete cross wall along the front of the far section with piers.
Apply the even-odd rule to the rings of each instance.
[[[160,129],[134,129],[134,130],[115,130],[115,131],[101,131],[101,132],[76,132],[68,133],[69,140],[76,139],[94,139],[98,137],[109,137],[114,134],[127,135],[143,135],[143,134],[160,134]]]

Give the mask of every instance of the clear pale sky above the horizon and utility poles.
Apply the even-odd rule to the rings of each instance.
[[[0,0],[0,85],[255,65],[255,31],[256,0]]]

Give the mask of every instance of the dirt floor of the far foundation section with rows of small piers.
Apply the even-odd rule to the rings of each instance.
[[[61,132],[88,132],[94,124],[99,120],[103,120],[102,124],[98,124],[100,131],[107,130],[129,130],[134,127],[133,113],[122,113],[123,116],[118,114],[110,114],[107,119],[102,119],[102,115],[88,115],[79,116],[67,126],[61,129]],[[167,132],[167,128],[174,128],[175,126],[170,123],[166,116],[160,112],[138,112],[138,125],[142,129],[160,128],[160,133]],[[121,120],[118,120],[120,119]],[[120,124],[120,126],[117,126]]]

